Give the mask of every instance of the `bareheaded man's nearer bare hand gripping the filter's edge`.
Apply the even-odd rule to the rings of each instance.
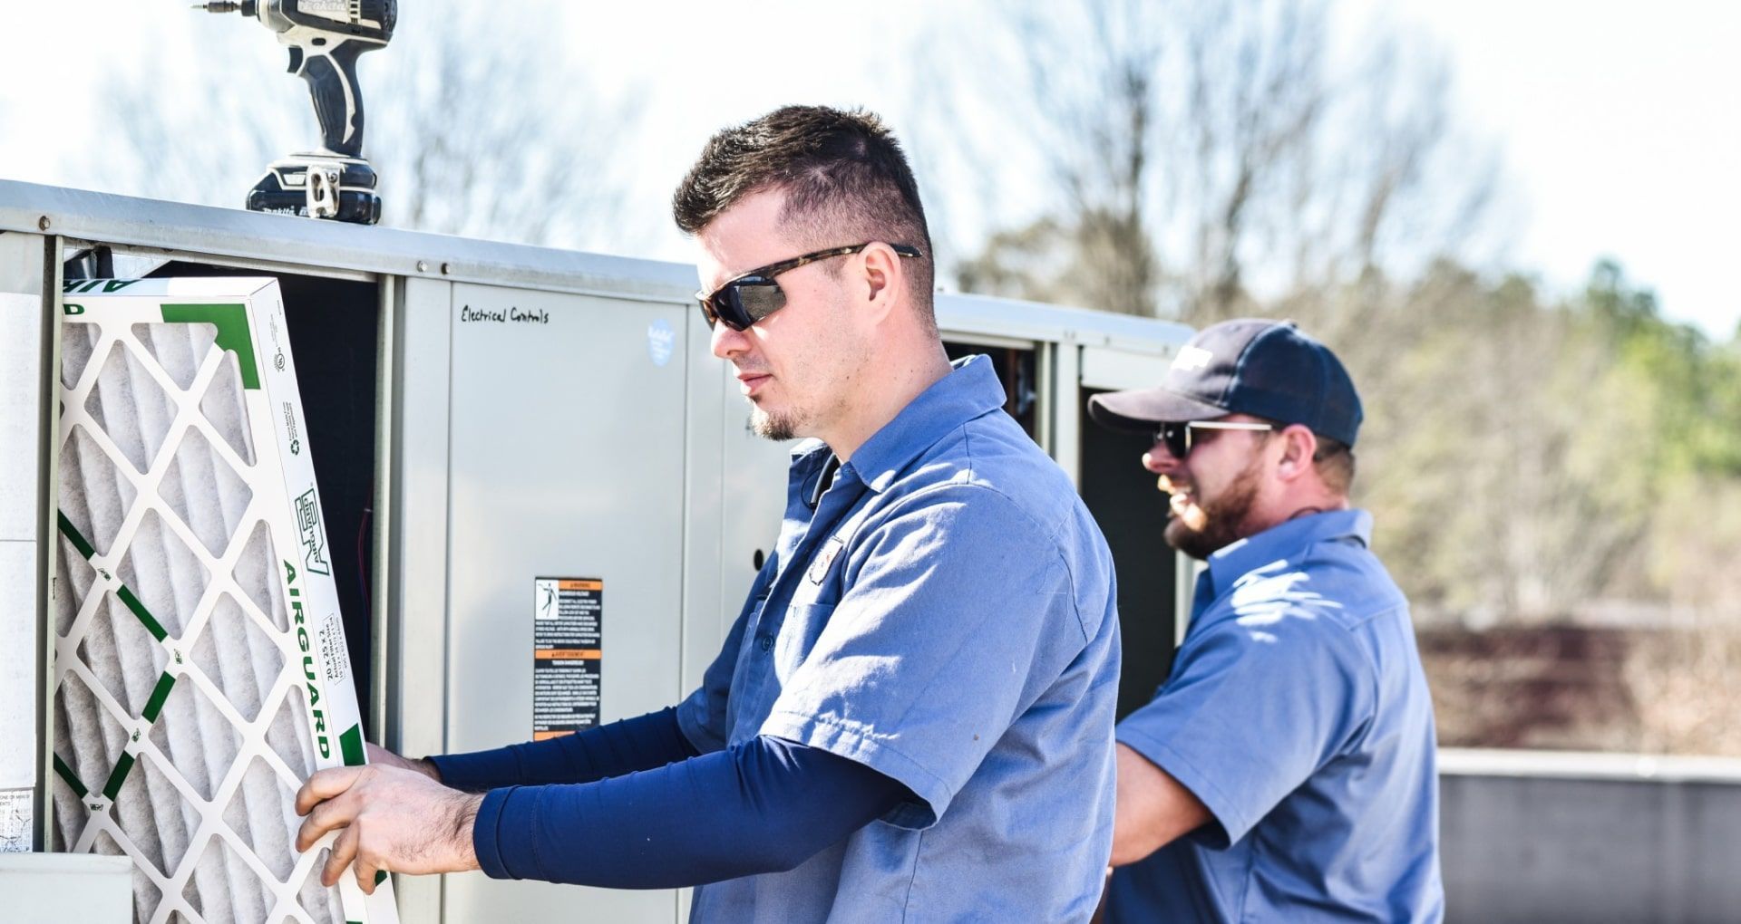
[[[296,792],[296,849],[339,830],[320,884],[333,886],[353,867],[357,884],[374,894],[378,872],[440,874],[477,868],[472,821],[482,795],[449,790],[414,769],[393,766],[317,771]]]

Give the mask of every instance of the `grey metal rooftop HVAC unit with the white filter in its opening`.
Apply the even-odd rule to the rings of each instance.
[[[327,593],[319,562],[345,574],[352,666],[385,741],[453,753],[681,700],[780,529],[790,458],[747,426],[731,365],[710,355],[695,266],[3,179],[0,231],[0,849],[127,854],[143,919],[373,910],[353,886],[305,891],[317,860],[289,849],[292,787],[343,760],[357,715],[326,628],[336,607],[310,604]],[[174,278],[85,278],[117,264]],[[263,273],[277,285],[190,278]],[[1121,693],[1147,700],[1189,571],[1156,567],[1165,503],[1135,465],[1142,437],[1086,426],[1083,402],[1158,381],[1191,332],[961,294],[937,296],[937,320],[951,357],[991,357],[1010,412],[1079,479],[1119,609],[1146,614],[1125,626]],[[301,402],[277,369],[287,332]],[[320,498],[299,468],[310,426]],[[333,557],[327,531],[359,536],[374,576],[360,606],[352,550]],[[308,581],[306,653],[286,564]],[[547,590],[595,639],[555,639]],[[564,675],[555,651],[588,656]],[[320,706],[331,757],[306,712]],[[393,887],[420,922],[688,915],[681,889],[475,874]]]

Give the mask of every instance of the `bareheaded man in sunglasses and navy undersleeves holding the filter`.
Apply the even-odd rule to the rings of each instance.
[[[698,886],[695,921],[1086,921],[1112,842],[1111,553],[991,362],[949,362],[905,155],[874,115],[789,106],[714,136],[674,212],[752,426],[808,437],[702,687],[548,741],[371,750],[303,787],[298,847],[373,809],[327,882],[355,858],[366,891],[479,867]]]

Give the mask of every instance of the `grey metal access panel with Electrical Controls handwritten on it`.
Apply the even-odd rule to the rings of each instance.
[[[449,752],[533,738],[534,715],[583,712],[588,684],[597,722],[684,693],[686,322],[676,305],[453,285]],[[595,616],[597,644],[540,637],[547,590]],[[534,649],[592,663],[569,665],[555,691],[540,679],[534,703],[534,673],[550,670]],[[444,919],[669,921],[676,903],[676,891],[451,875]]]

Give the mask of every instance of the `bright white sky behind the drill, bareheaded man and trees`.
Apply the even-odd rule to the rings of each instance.
[[[729,122],[817,101],[865,104],[898,127],[916,97],[938,92],[919,85],[904,59],[912,38],[961,9],[924,0],[874,9],[796,0],[514,3],[548,16],[590,71],[609,75],[601,92],[641,87],[648,137],[632,176],[616,181],[627,209],[660,216],[702,143]],[[270,77],[284,52],[239,16],[232,24],[202,23],[218,17],[188,10],[186,0],[10,7],[0,33],[0,177],[70,183],[70,158],[101,144],[101,127],[78,111],[104,92],[96,64],[104,59],[155,54],[169,68],[197,68],[202,44],[237,42],[261,63],[237,82],[263,84],[239,92],[258,94],[261,104],[308,106],[294,78]],[[418,7],[400,0],[402,19]],[[1501,155],[1508,266],[1549,292],[1572,292],[1609,256],[1657,292],[1670,318],[1715,339],[1736,332],[1741,3],[1344,0],[1339,12],[1349,33],[1374,17],[1417,30],[1449,57],[1457,118]],[[306,141],[286,139],[286,150]],[[606,249],[689,258],[674,231]]]

